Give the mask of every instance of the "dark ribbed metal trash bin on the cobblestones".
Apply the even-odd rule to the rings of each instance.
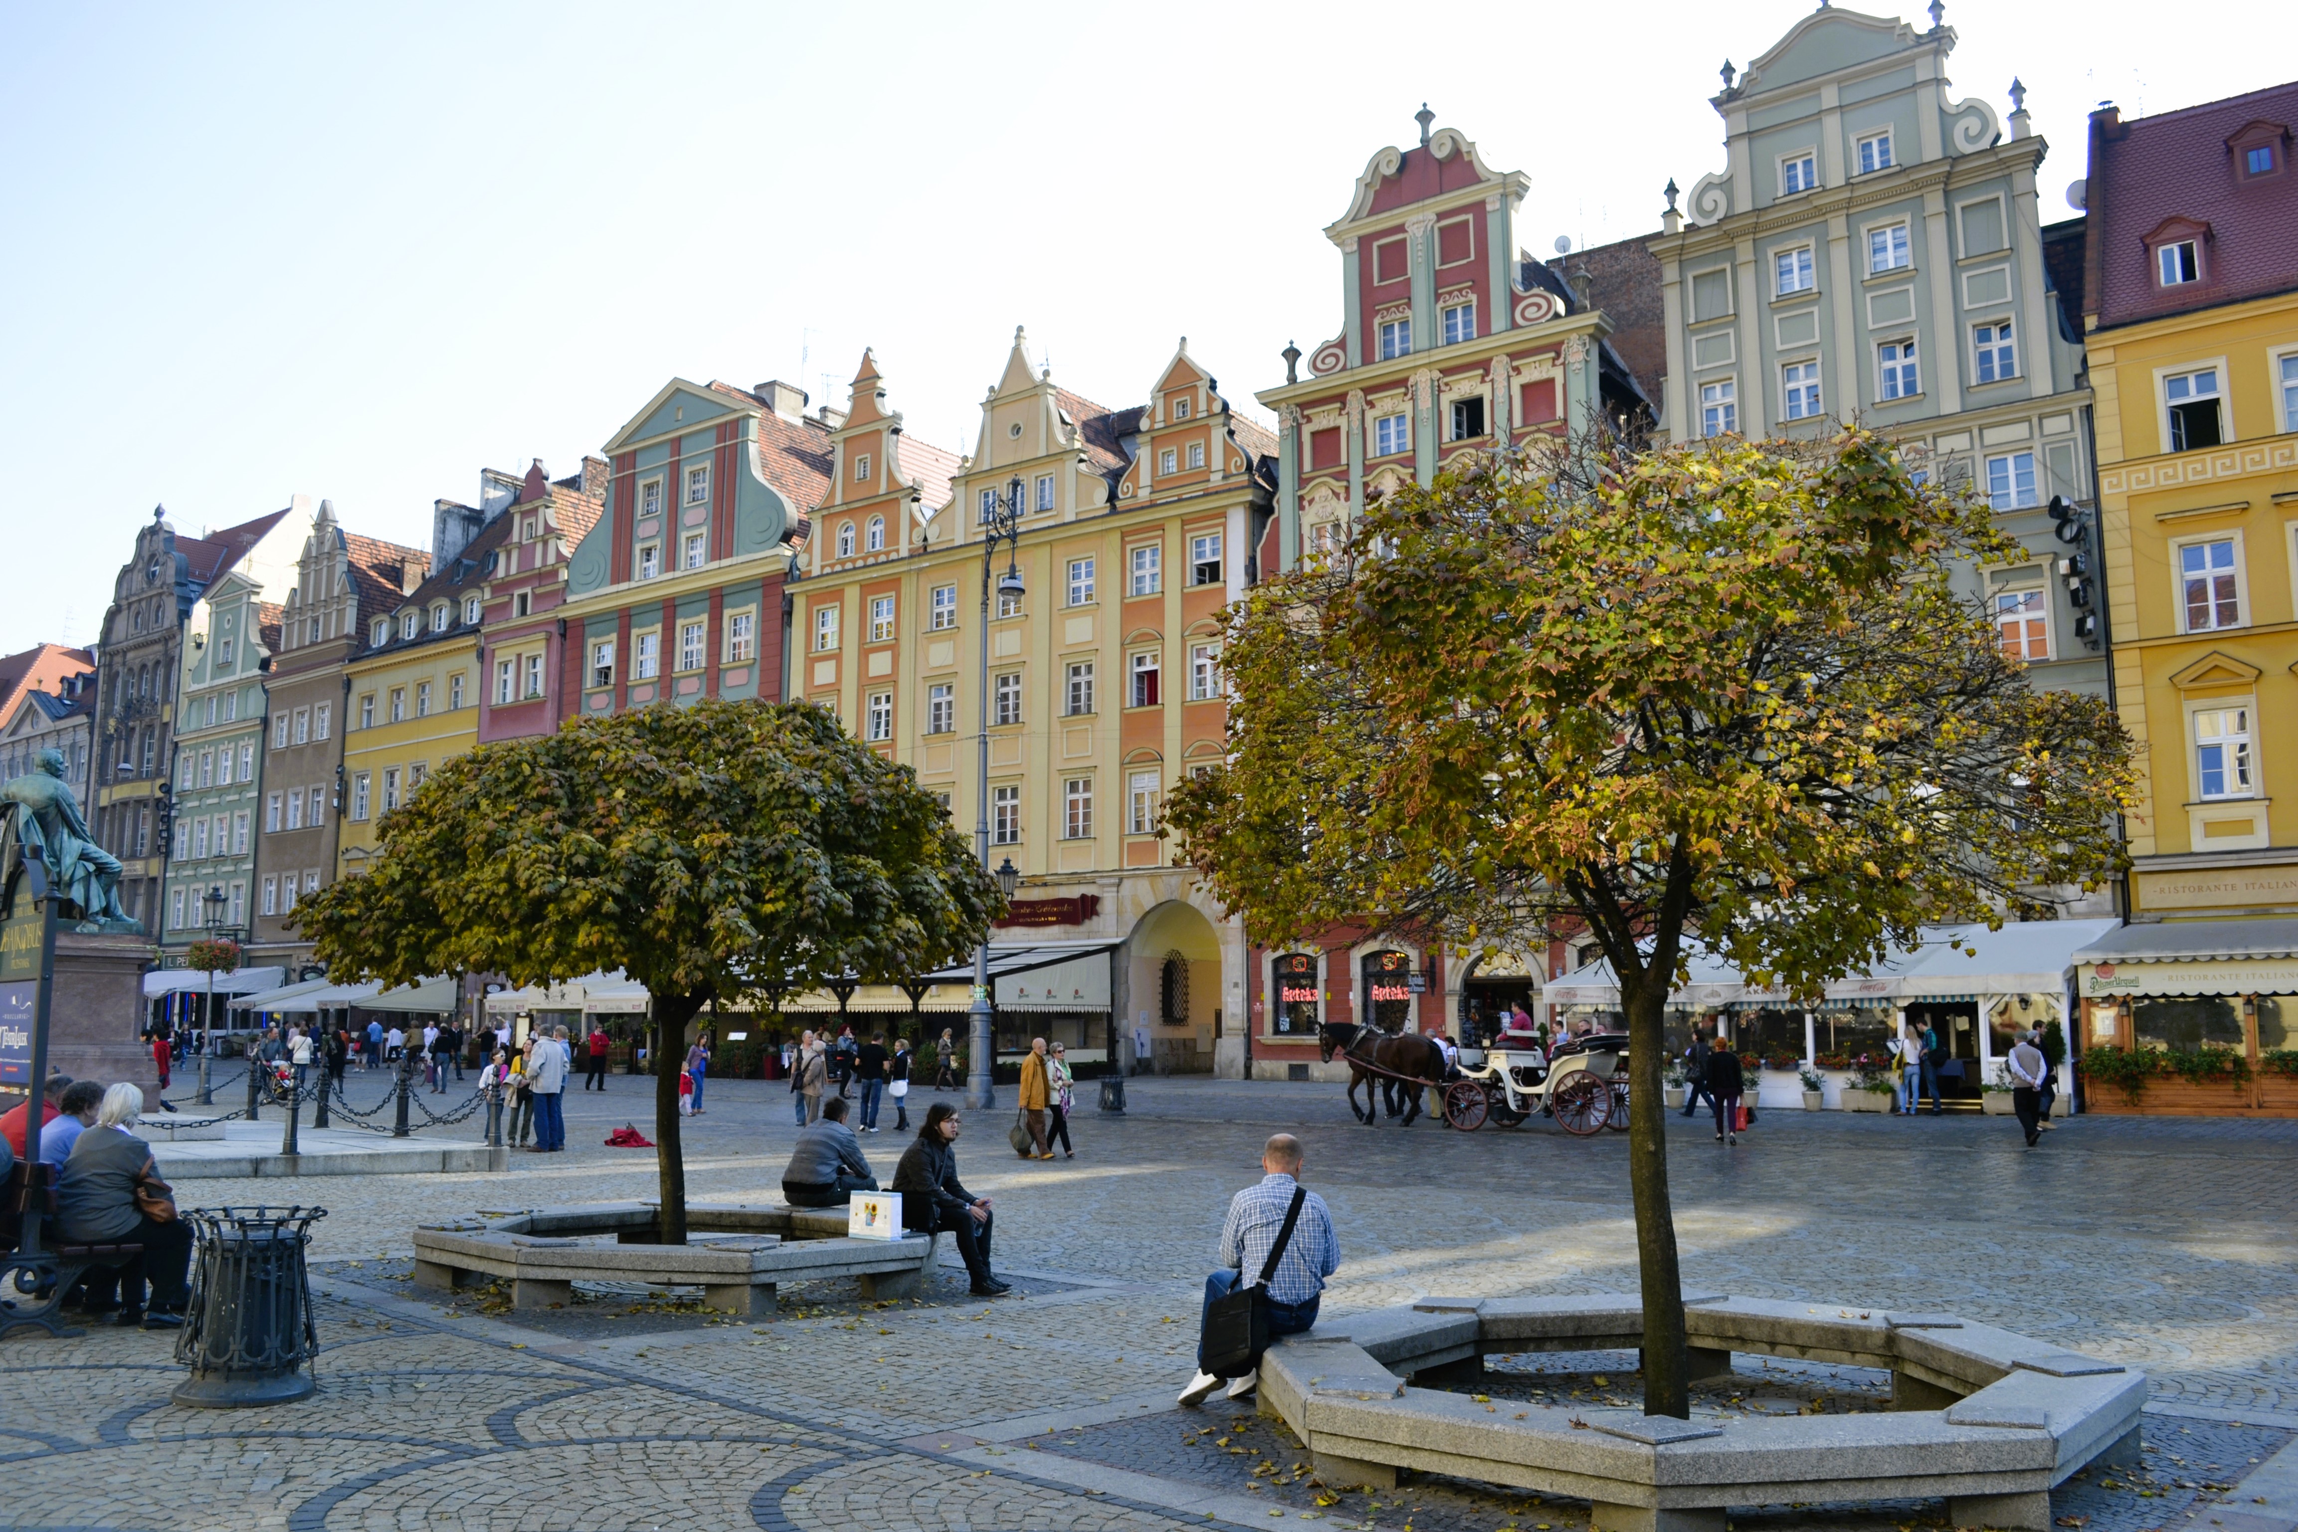
[[[177,1403],[244,1410],[308,1399],[319,1353],[303,1252],[326,1208],[193,1208],[191,1309],[175,1360],[191,1367]]]

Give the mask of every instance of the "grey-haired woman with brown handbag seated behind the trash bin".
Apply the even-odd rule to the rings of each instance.
[[[175,1215],[175,1192],[159,1178],[152,1146],[129,1132],[142,1091],[119,1082],[103,1093],[97,1123],[71,1144],[55,1183],[55,1227],[71,1245],[133,1245],[119,1270],[115,1325],[177,1330],[191,1272],[191,1229]],[[145,1309],[145,1282],[152,1307]]]

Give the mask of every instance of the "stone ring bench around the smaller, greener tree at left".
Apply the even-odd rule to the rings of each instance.
[[[855,1277],[864,1298],[908,1298],[933,1263],[935,1240],[846,1238],[846,1208],[689,1206],[685,1245],[657,1243],[657,1208],[609,1201],[533,1208],[496,1220],[416,1229],[416,1286],[457,1289],[510,1279],[515,1309],[565,1305],[577,1282],[701,1286],[722,1314],[772,1314],[781,1282]],[[614,1245],[588,1238],[611,1233]],[[703,1236],[703,1238],[694,1238]]]

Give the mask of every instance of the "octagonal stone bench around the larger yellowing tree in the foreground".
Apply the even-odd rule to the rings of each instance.
[[[1673,1419],[1478,1403],[1406,1387],[1468,1383],[1487,1355],[1643,1346],[1643,1305],[1425,1298],[1287,1337],[1262,1360],[1280,1415],[1328,1484],[1397,1468],[1593,1502],[1593,1532],[1724,1532],[1733,1507],[1944,1495],[1960,1525],[2050,1530],[2050,1491],[2091,1461],[2135,1463],[2144,1374],[1951,1314],[1701,1295],[1684,1300],[1694,1378],[1730,1353],[1875,1367],[1891,1410]]]

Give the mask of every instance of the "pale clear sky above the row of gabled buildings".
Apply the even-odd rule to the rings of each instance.
[[[1724,165],[1724,60],[1809,9],[0,5],[0,652],[92,643],[154,505],[427,547],[434,498],[572,473],[671,377],[843,407],[876,347],[963,450],[1023,324],[1103,404],[1188,335],[1250,407],[1340,328],[1321,230],[1422,101],[1528,175],[1526,250],[1627,239]],[[2020,76],[2054,145],[2045,223],[2096,101],[2291,71],[2227,46],[2282,5],[2158,21],[1946,7],[1956,94]]]

